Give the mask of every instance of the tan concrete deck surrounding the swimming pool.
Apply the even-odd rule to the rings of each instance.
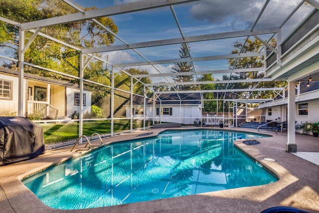
[[[257,132],[254,129],[224,128],[228,129]],[[105,138],[103,142],[156,136],[163,130],[165,129],[151,128]],[[139,136],[150,132],[151,135]],[[243,140],[238,140],[234,144],[280,177],[279,181],[272,184],[114,207],[56,210],[45,206],[19,180],[80,154],[80,152],[70,153],[72,147],[64,147],[46,151],[44,155],[30,160],[0,166],[0,213],[260,213],[275,206],[288,206],[319,213],[319,138],[296,134],[298,152],[288,153],[285,151],[287,133],[270,135],[273,137],[256,139],[260,142],[258,145],[247,146],[241,143]],[[81,152],[83,154],[85,151]],[[275,161],[268,161],[265,158]]]

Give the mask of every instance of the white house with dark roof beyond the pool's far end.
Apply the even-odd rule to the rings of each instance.
[[[146,102],[146,119],[155,117],[156,122],[194,124],[200,121],[202,104],[200,94],[162,94],[158,97],[156,104],[148,99]],[[160,101],[159,101],[160,100]],[[161,103],[160,103],[161,102]],[[126,105],[126,117],[130,118],[131,108]],[[144,118],[144,105],[142,96],[133,96],[133,119]]]

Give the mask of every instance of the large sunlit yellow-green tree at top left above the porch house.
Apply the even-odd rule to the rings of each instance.
[[[84,10],[92,9],[96,8],[84,8]],[[29,22],[74,12],[77,12],[77,10],[60,0],[0,0],[0,16],[17,22]],[[113,33],[118,32],[112,18],[100,17],[97,20]],[[8,35],[0,34],[0,45],[4,46],[6,44],[7,47],[11,48],[12,55],[17,58],[18,27],[6,23],[4,27],[3,22],[1,22],[0,28],[6,30]],[[79,48],[111,45],[114,42],[114,35],[92,20],[43,27],[41,32]],[[28,40],[32,34],[31,32],[25,32],[25,40]],[[15,45],[12,45],[12,43]],[[79,54],[77,50],[38,35],[25,52],[24,61],[77,75],[79,72]],[[32,68],[26,69],[26,72],[32,72]],[[51,75],[54,76],[55,74]]]

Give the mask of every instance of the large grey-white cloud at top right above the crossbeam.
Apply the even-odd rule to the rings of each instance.
[[[255,22],[264,0],[203,0],[190,9],[190,16],[210,23],[230,23],[233,29],[243,23],[250,28]],[[259,27],[277,26],[298,4],[298,0],[273,0],[267,5],[258,22]]]

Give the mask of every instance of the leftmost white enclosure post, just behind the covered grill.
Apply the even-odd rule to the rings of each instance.
[[[19,28],[19,55],[18,55],[18,116],[23,116],[23,89],[24,89],[24,31]]]

